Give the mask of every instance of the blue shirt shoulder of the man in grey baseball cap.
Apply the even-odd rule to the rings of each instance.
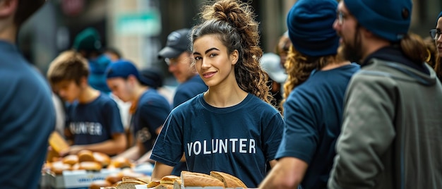
[[[181,83],[181,85],[178,85],[174,94],[173,106],[177,107],[179,104],[186,102],[187,100],[195,97],[197,94],[205,92],[206,90],[208,90],[208,87],[205,85],[200,75],[195,75],[186,82]]]

